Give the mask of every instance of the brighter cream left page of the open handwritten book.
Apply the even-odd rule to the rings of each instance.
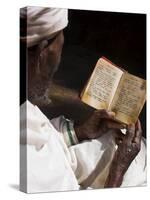
[[[82,93],[81,100],[96,109],[108,109],[123,71],[100,58]]]

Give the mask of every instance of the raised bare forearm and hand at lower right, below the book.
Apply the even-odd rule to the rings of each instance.
[[[123,176],[141,148],[142,129],[140,121],[127,127],[127,134],[117,140],[118,149],[113,158],[105,187],[119,187]]]

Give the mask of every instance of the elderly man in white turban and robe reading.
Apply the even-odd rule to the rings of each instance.
[[[20,189],[35,193],[143,185],[146,151],[140,121],[127,126],[124,135],[124,125],[106,110],[74,124],[64,116],[50,121],[38,108],[50,103],[47,89],[60,62],[67,23],[66,9],[21,9],[29,101],[21,105]]]

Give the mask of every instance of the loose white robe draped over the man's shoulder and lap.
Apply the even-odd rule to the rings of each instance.
[[[62,116],[51,121],[27,101],[27,193],[79,190],[80,183],[89,177],[99,163],[97,178],[90,188],[103,188],[109,166],[116,150],[113,134],[99,139],[84,141],[67,147]],[[21,112],[25,112],[25,104]],[[21,148],[24,148],[25,114],[21,114]],[[23,158],[21,158],[23,159]],[[27,176],[27,177],[26,177]],[[127,170],[121,187],[146,184],[146,146],[144,139],[141,151]]]

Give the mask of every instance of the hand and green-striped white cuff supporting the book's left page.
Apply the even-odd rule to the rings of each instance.
[[[124,125],[114,120],[114,113],[96,110],[82,124],[60,116],[51,120],[54,127],[61,133],[67,146],[75,145],[83,140],[95,139],[107,133],[109,129],[120,129]]]

